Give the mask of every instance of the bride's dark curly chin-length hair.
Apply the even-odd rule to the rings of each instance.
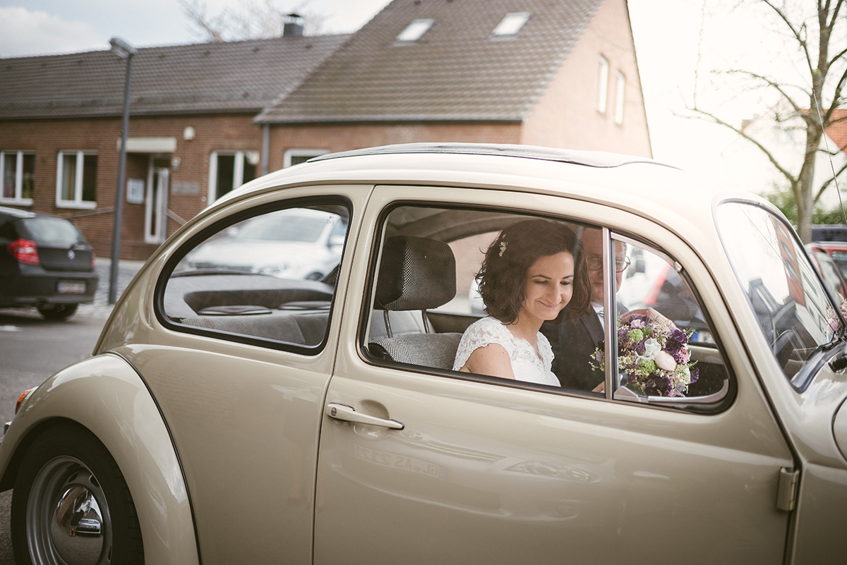
[[[590,312],[591,285],[585,254],[577,236],[562,223],[524,220],[503,229],[485,251],[476,280],[489,315],[504,324],[518,320],[526,298],[529,267],[540,257],[567,251],[574,258],[573,295],[553,323],[576,320]]]

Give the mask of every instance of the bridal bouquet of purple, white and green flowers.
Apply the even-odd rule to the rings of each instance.
[[[627,376],[627,387],[648,396],[685,396],[697,380],[688,348],[691,333],[645,315],[634,315],[626,323],[618,319],[617,365]],[[602,342],[592,357],[594,370],[605,371]]]

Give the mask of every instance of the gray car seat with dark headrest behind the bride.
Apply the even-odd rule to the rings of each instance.
[[[395,236],[385,240],[376,286],[376,310],[382,310],[386,336],[372,339],[375,357],[398,363],[450,370],[461,333],[433,333],[426,310],[456,296],[456,258],[436,239]],[[423,332],[394,335],[389,312],[421,310]]]

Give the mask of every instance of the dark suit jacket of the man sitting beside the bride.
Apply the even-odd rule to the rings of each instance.
[[[541,333],[550,341],[553,373],[562,388],[590,391],[605,379],[600,370],[591,369],[592,356],[603,339],[603,326],[596,312],[575,321],[545,323]]]

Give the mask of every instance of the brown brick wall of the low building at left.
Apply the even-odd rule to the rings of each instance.
[[[165,155],[180,159],[179,170],[171,171],[170,184],[191,182],[200,186],[198,195],[169,195],[169,209],[189,220],[207,206],[209,154],[212,151],[261,151],[262,130],[252,123],[253,115],[130,116],[130,137],[174,137],[176,151]],[[195,129],[194,140],[184,140],[183,131]],[[112,252],[113,208],[117,188],[120,137],[119,118],[13,120],[0,122],[0,151],[35,151],[36,171],[31,209],[68,217],[86,235],[97,255]],[[58,151],[97,151],[97,208],[76,210],[56,206]],[[147,183],[150,155],[129,153],[125,177]],[[124,203],[121,222],[121,257],[147,259],[156,244],[144,241],[145,206]],[[168,234],[180,224],[168,222]]]

